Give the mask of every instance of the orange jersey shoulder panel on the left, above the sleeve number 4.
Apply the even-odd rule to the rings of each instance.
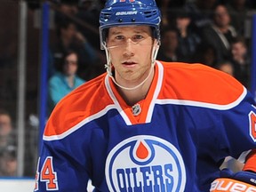
[[[46,124],[44,136],[67,132],[71,127],[111,104],[105,87],[105,76],[106,74],[103,74],[80,85],[60,100]]]

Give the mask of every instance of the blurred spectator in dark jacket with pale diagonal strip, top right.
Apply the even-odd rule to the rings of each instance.
[[[223,4],[216,6],[213,12],[213,23],[204,28],[204,43],[211,44],[217,52],[217,59],[228,60],[230,56],[230,44],[236,37],[236,29],[230,25],[230,15]]]

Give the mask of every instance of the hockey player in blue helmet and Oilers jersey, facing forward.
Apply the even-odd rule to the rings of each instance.
[[[107,1],[107,73],[53,110],[35,191],[256,191],[251,93],[216,69],[156,60],[160,20],[154,0]],[[244,171],[220,171],[226,156]]]

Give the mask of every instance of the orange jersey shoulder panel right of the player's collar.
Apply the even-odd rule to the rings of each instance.
[[[162,62],[164,90],[162,97],[228,105],[236,101],[245,88],[233,76],[199,63]],[[170,98],[171,99],[171,98]]]

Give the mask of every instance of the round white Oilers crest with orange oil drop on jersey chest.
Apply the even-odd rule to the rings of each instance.
[[[170,142],[139,135],[118,143],[105,167],[109,191],[184,191],[185,165]]]

